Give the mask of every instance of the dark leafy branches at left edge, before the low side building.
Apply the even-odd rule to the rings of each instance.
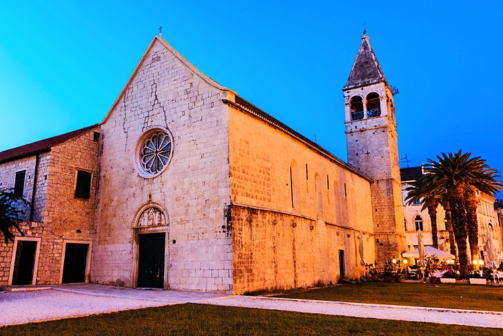
[[[6,244],[14,241],[12,229],[16,229],[21,235],[24,235],[19,227],[25,213],[23,205],[31,206],[28,201],[16,196],[13,191],[0,189],[0,232]]]

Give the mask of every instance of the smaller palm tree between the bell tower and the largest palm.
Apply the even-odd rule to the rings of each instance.
[[[429,174],[422,175],[418,180],[411,182],[411,186],[407,187],[405,191],[409,191],[405,198],[408,204],[420,201],[422,203],[421,210],[428,210],[433,247],[438,249],[437,207],[442,197],[438,194],[438,190],[435,189],[435,185],[433,185],[433,178]]]

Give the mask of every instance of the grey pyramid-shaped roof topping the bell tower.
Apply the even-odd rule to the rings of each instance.
[[[386,82],[386,78],[384,78],[384,73],[376,58],[376,54],[373,53],[369,37],[363,36],[360,50],[358,50],[351,74],[349,74],[344,88],[351,89],[379,82]]]

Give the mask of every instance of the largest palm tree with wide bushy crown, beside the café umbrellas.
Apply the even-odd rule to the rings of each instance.
[[[468,237],[468,219],[466,216],[465,194],[473,188],[492,195],[503,184],[495,180],[496,171],[486,165],[479,156],[471,158],[471,153],[444,154],[437,156],[438,161],[428,160],[427,171],[431,173],[433,184],[444,189],[446,200],[451,206],[451,216],[455,240],[458,243],[460,273],[469,275],[466,238]]]

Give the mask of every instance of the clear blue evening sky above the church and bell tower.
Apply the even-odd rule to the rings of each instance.
[[[162,25],[202,72],[346,160],[341,89],[365,22],[400,89],[400,158],[462,149],[503,170],[502,4],[404,2],[3,3],[0,151],[99,123]]]

